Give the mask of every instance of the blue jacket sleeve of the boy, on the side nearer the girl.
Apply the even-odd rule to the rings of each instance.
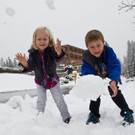
[[[83,60],[83,64],[82,64],[82,68],[81,68],[81,74],[83,75],[89,75],[89,74],[95,74],[95,71],[93,70],[93,68],[87,64],[84,60]]]

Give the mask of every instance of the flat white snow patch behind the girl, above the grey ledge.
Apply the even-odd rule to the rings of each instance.
[[[35,89],[34,76],[25,74],[0,74],[0,92]]]

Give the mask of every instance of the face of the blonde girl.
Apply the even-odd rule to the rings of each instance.
[[[49,45],[49,36],[44,30],[38,30],[36,33],[36,47],[42,52]]]

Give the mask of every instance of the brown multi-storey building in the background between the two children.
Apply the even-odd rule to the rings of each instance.
[[[65,64],[65,65],[82,64],[82,55],[85,52],[84,49],[80,49],[78,47],[74,47],[71,45],[62,45],[62,49],[66,54],[64,60],[61,61],[60,64]]]

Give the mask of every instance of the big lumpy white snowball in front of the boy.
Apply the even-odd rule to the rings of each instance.
[[[87,75],[78,78],[76,86],[71,92],[83,99],[96,100],[100,95],[105,94],[106,83],[99,76]]]

